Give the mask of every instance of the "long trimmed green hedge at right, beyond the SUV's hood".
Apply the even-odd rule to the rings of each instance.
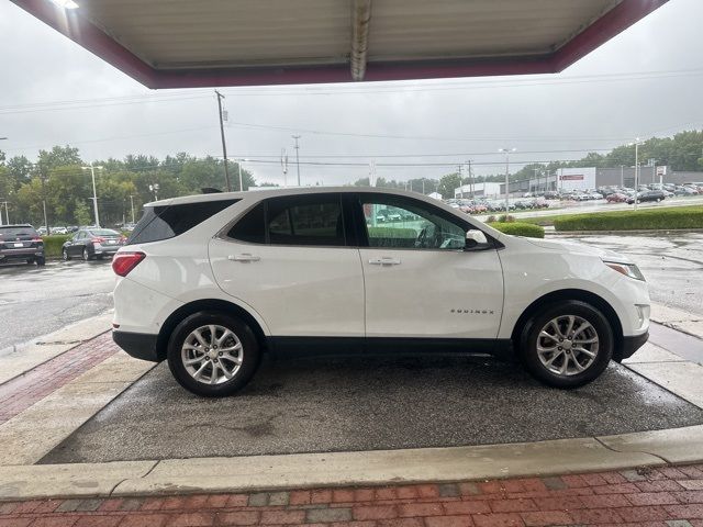
[[[703,228],[703,206],[573,214],[554,220],[556,231],[651,231]]]

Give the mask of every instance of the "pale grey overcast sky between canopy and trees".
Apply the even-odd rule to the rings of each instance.
[[[302,136],[301,161],[364,164],[301,165],[303,184],[331,184],[368,176],[373,159],[388,179],[436,178],[453,167],[384,162],[472,159],[475,173],[494,173],[502,168],[480,164],[500,161],[501,147],[517,149],[517,167],[700,128],[702,21],[703,0],[670,0],[553,76],[225,88],[227,149],[231,157],[277,160],[287,148],[289,182],[293,133]],[[9,156],[34,159],[56,144],[79,147],[87,160],[222,153],[212,90],[148,90],[8,0],[0,0],[0,137],[9,137],[0,148]],[[282,182],[278,162],[245,166],[259,182]]]

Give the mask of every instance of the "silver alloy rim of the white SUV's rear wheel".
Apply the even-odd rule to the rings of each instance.
[[[180,358],[186,371],[198,382],[221,384],[239,371],[244,348],[232,329],[209,324],[190,332]]]

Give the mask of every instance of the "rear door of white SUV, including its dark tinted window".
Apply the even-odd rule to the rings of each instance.
[[[270,198],[210,244],[220,288],[278,337],[364,337],[364,279],[339,193]]]

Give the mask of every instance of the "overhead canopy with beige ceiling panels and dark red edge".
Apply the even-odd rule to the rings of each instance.
[[[667,2],[13,1],[149,88],[557,72]]]

